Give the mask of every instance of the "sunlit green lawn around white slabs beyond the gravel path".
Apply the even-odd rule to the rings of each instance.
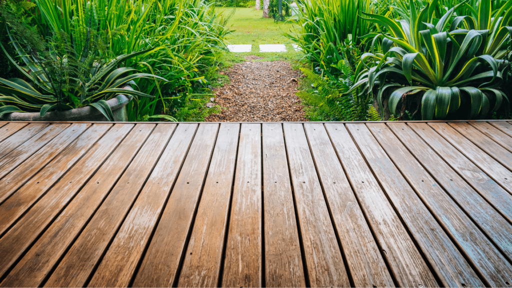
[[[234,11],[234,14],[233,14]],[[220,8],[223,17],[231,15],[227,27],[236,30],[226,37],[226,44],[251,44],[250,53],[236,53],[242,55],[256,55],[265,57],[265,61],[296,60],[302,55],[292,47],[292,42],[283,36],[283,33],[295,33],[297,26],[291,22],[274,23],[272,18],[263,18],[262,10],[254,8]],[[260,44],[284,44],[288,52],[260,53]]]

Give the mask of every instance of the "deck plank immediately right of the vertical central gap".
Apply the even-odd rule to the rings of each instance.
[[[265,285],[305,287],[282,125],[263,124],[262,142]]]

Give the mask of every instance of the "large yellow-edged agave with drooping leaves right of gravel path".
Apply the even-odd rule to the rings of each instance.
[[[482,2],[485,1],[489,0]],[[479,14],[489,7],[490,3],[488,6],[481,4]],[[424,120],[434,117],[484,118],[497,111],[504,100],[508,101],[500,90],[503,65],[495,58],[502,55],[500,51],[510,37],[509,33],[503,32],[509,31],[510,27],[498,28],[507,25],[508,20],[504,17],[488,19],[500,23],[494,26],[494,40],[489,40],[488,30],[446,31],[455,9],[457,6],[447,11],[435,25],[434,9],[427,5],[417,13],[412,0],[408,15],[402,13],[400,20],[365,13],[368,20],[385,27],[388,33],[377,35],[372,53],[361,56],[356,71],[357,83],[349,92],[361,86],[364,91],[371,92],[378,85],[378,104],[388,100],[389,110],[394,115],[403,115],[407,108],[410,109],[411,100],[420,99],[417,104],[421,109],[417,110],[421,111]],[[457,19],[461,18],[455,17],[454,22]],[[374,52],[379,45],[378,39],[382,39],[382,53]],[[492,44],[487,46],[485,43]],[[386,91],[391,91],[389,99],[383,99]]]

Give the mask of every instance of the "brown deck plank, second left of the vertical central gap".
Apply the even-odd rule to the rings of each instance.
[[[215,287],[219,282],[239,131],[240,124],[220,126],[179,287]]]

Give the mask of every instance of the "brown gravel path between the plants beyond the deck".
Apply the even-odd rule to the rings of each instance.
[[[234,65],[227,73],[230,85],[215,91],[215,104],[227,108],[206,121],[216,122],[280,122],[307,121],[297,92],[300,71],[285,61],[246,62]]]

